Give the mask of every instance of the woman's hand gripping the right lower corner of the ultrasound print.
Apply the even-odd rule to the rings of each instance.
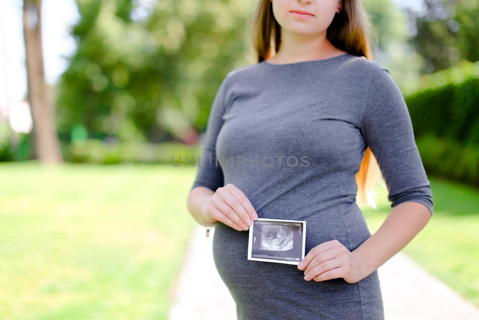
[[[298,269],[305,270],[307,281],[344,278],[346,282],[356,283],[364,278],[359,258],[336,239],[311,249],[301,263]]]

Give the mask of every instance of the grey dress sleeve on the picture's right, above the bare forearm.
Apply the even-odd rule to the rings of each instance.
[[[386,182],[391,207],[416,201],[433,215],[431,185],[414,140],[408,107],[389,71],[374,63],[362,121],[366,145]]]

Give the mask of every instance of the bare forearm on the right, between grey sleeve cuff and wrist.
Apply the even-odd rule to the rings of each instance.
[[[364,277],[406,247],[429,219],[429,209],[420,202],[406,201],[392,208],[376,233],[351,251],[360,261]]]

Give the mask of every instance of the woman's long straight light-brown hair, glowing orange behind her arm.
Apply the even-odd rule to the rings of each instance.
[[[342,10],[339,14],[334,15],[334,19],[327,29],[328,40],[333,46],[343,51],[372,60],[370,35],[376,36],[376,34],[373,32],[368,13],[360,0],[342,1]],[[271,47],[274,47],[274,53],[279,51],[281,26],[274,18],[271,0],[258,2],[251,21],[251,41],[258,62],[270,58]],[[358,186],[356,202],[359,206],[368,204],[376,208],[373,199],[374,187],[380,176],[381,171],[376,158],[371,149],[367,147],[361,167],[356,174]]]

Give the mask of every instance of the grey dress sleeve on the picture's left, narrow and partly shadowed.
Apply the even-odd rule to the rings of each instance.
[[[224,186],[223,170],[221,169],[219,159],[218,161],[216,159],[216,140],[224,122],[222,117],[225,112],[226,83],[230,73],[221,82],[213,100],[206,125],[205,144],[200,160],[196,164],[198,171],[191,189],[204,186],[216,191],[219,187]]]

